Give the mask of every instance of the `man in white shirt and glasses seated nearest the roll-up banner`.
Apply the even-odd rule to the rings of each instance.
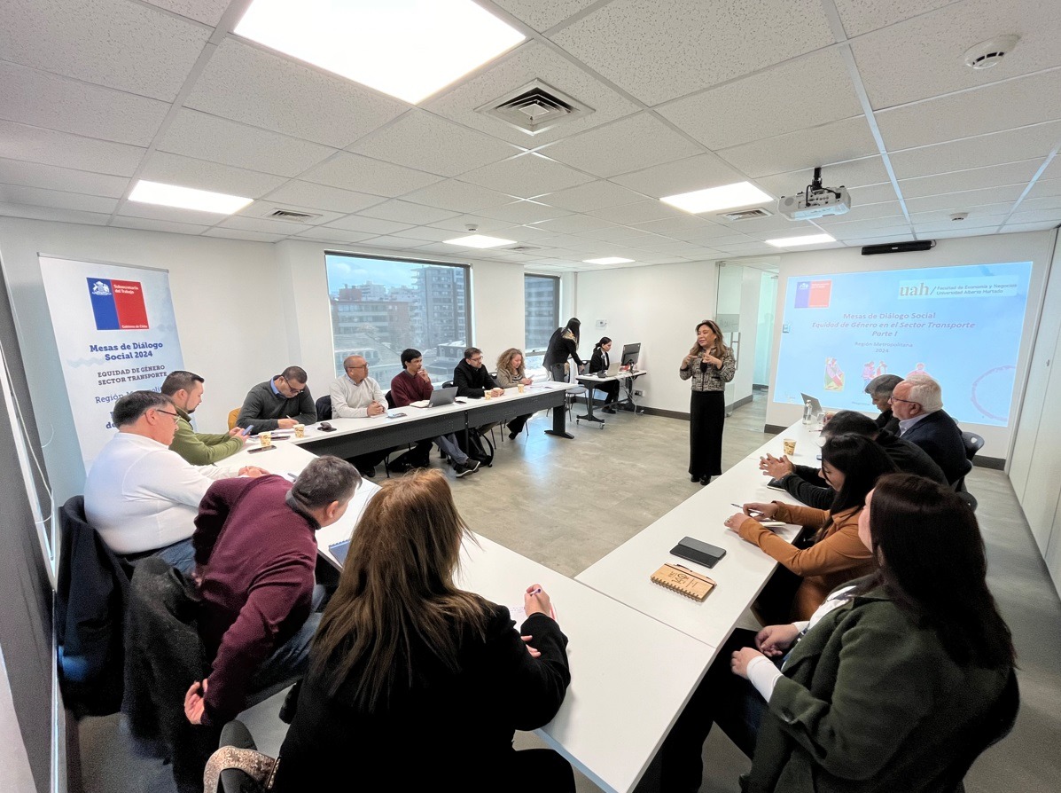
[[[179,414],[173,401],[153,391],[134,391],[111,412],[118,434],[92,462],[85,481],[85,515],[111,551],[135,561],[159,556],[191,572],[191,536],[198,504],[216,479],[258,477],[245,466],[194,466],[169,446]]]

